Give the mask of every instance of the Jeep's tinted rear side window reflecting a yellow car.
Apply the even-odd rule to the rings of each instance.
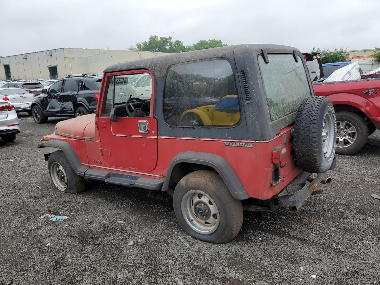
[[[224,59],[169,68],[164,117],[174,126],[227,127],[240,121],[240,100],[230,63]]]

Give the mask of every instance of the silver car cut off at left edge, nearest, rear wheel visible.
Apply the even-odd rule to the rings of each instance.
[[[4,142],[13,142],[20,132],[20,122],[14,106],[0,99],[0,138]]]

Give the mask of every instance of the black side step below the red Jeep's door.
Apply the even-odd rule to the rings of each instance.
[[[138,175],[108,172],[97,169],[88,169],[84,173],[84,177],[104,181],[111,184],[138,187],[149,190],[161,190],[162,185],[164,184],[163,180],[145,178]]]

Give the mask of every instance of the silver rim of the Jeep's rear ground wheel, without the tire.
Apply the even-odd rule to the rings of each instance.
[[[182,215],[186,223],[200,234],[211,234],[219,226],[220,215],[217,205],[201,190],[190,190],[181,201]]]

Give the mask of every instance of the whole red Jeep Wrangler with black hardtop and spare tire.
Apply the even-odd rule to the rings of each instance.
[[[167,191],[190,236],[224,243],[243,209],[297,211],[321,193],[335,126],[298,49],[244,44],[113,65],[97,113],[57,123],[38,147],[59,149],[45,159],[62,192],[85,179]]]

